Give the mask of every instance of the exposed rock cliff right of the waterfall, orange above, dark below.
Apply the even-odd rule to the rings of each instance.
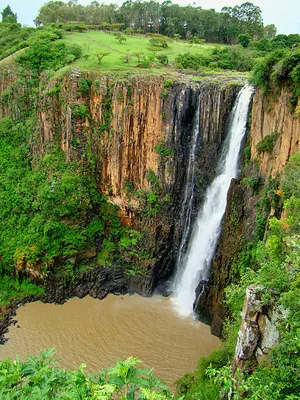
[[[263,238],[264,231],[258,232],[256,217],[259,211],[256,205],[264,185],[269,177],[280,173],[288,159],[300,149],[300,119],[291,113],[288,97],[288,93],[282,90],[277,99],[263,95],[261,91],[257,91],[253,98],[247,143],[248,150],[251,149],[251,159],[248,160],[240,180],[231,184],[223,229],[212,261],[212,274],[206,287],[203,287],[203,283],[198,287],[198,293],[202,290],[204,293],[196,311],[200,319],[211,324],[212,332],[216,335],[221,335],[226,316],[224,290],[236,279],[234,263],[249,242],[259,235],[258,239]],[[273,147],[269,151],[258,151],[258,143],[274,133],[276,136]],[[260,189],[250,187],[247,181],[251,180],[258,180]],[[275,212],[272,207],[264,211],[266,221]],[[245,324],[247,323],[244,322]],[[245,327],[245,332],[247,329]]]

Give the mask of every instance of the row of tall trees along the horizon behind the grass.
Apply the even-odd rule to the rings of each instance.
[[[83,23],[94,26],[117,26],[133,33],[159,33],[175,38],[199,38],[207,42],[236,44],[240,34],[251,39],[276,35],[275,25],[264,27],[261,9],[250,2],[240,6],[214,9],[188,5],[180,6],[170,0],[127,0],[120,7],[116,4],[99,4],[92,1],[83,6],[77,0],[68,3],[50,1],[41,7],[35,24]]]

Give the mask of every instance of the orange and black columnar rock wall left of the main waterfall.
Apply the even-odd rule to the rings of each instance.
[[[26,79],[17,81],[14,72],[6,70],[0,78],[5,98],[1,113],[18,118],[22,110],[34,109],[38,123],[32,151],[42,157],[49,147],[59,144],[68,162],[77,161],[87,170],[93,165],[99,191],[119,207],[123,224],[147,231],[145,246],[150,257],[143,262],[143,276],[135,277],[134,289],[149,294],[176,265],[199,101],[194,214],[214,176],[227,117],[240,85],[239,80],[201,83],[155,75],[116,78],[72,70],[55,79],[42,76],[32,100]],[[149,202],[152,195],[158,199],[154,205]],[[98,246],[100,251],[101,243]]]

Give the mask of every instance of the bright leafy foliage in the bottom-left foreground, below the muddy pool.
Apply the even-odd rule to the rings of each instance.
[[[97,374],[84,373],[85,364],[71,371],[59,369],[53,349],[21,362],[0,361],[0,398],[22,400],[169,400],[168,387],[152,370],[140,369],[141,362],[129,357]]]

